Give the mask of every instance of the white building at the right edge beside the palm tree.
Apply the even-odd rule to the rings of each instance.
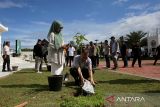
[[[160,45],[160,28],[157,28],[155,32],[149,33],[148,40],[148,54],[153,56],[156,53],[156,47]]]

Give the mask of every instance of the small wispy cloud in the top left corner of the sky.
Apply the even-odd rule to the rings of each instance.
[[[0,8],[22,8],[24,4],[15,3],[13,1],[0,1]]]

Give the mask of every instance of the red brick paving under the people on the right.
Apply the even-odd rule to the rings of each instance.
[[[160,80],[160,61],[157,61],[157,65],[153,65],[153,60],[143,60],[142,61],[142,67],[138,67],[138,61],[136,62],[134,68],[131,67],[132,61],[129,61],[129,67],[128,68],[123,68],[123,62],[118,61],[119,64],[119,70],[118,73],[124,73],[124,74],[129,74],[129,75],[136,75],[140,77],[145,77],[145,78],[151,78],[151,79],[156,79]],[[113,67],[113,62],[111,61],[111,66]],[[100,69],[105,68],[105,62],[100,62]]]

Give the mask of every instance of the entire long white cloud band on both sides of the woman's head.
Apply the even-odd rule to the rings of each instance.
[[[111,23],[95,23],[94,21],[73,21],[70,23],[64,22],[62,34],[64,35],[65,43],[73,40],[73,36],[77,32],[85,34],[89,41],[94,41],[96,39],[99,41],[104,41],[113,35],[118,38],[121,35],[125,36],[129,32],[137,30],[151,32],[157,27],[160,27],[159,19],[160,11],[141,14],[139,16],[129,16]],[[18,38],[23,40],[23,46],[33,47],[38,38],[44,39],[47,37],[50,25],[38,26],[36,24],[32,24],[25,28],[31,32],[17,32],[17,34],[12,34],[11,40]],[[3,38],[4,37],[8,38],[5,35]]]

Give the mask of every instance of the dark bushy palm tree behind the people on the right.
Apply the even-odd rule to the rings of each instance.
[[[133,43],[141,42],[141,39],[144,38],[146,34],[147,33],[143,31],[130,32],[130,34],[126,35],[128,46],[131,48]]]

